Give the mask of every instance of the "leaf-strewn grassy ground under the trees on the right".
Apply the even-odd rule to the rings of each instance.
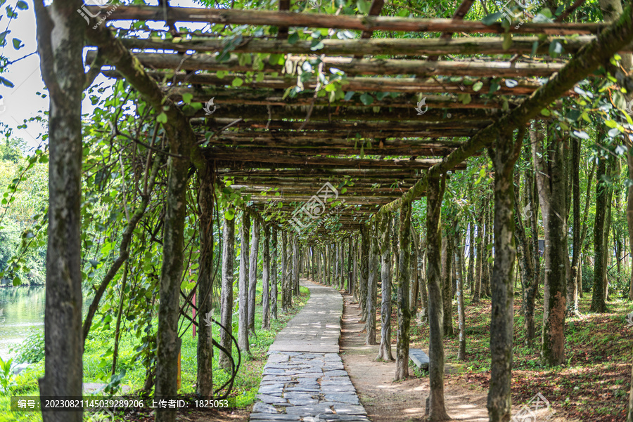
[[[603,314],[589,312],[591,293],[580,298],[581,317],[565,319],[565,363],[544,367],[539,359],[543,303],[537,299],[535,348],[525,345],[520,287],[514,300],[514,344],[512,402],[525,404],[542,393],[558,414],[582,421],[625,422],[633,358],[633,327],[626,316],[633,302],[615,298]],[[487,392],[490,385],[490,298],[471,303],[464,295],[466,310],[466,362],[457,360],[459,350],[456,302],[453,306],[454,336],[444,341],[447,383],[478,385]],[[394,315],[392,329],[397,330]],[[397,332],[397,331],[392,331]],[[411,347],[428,346],[428,324],[411,324]],[[415,374],[418,376],[418,374]]]

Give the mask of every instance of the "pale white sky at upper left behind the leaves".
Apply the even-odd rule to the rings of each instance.
[[[86,1],[86,4],[94,4],[95,1],[107,1],[107,0],[90,0]],[[9,0],[7,4],[15,6],[17,0]],[[44,111],[49,109],[49,98],[42,98],[39,93],[46,93],[44,81],[41,78],[41,71],[39,68],[39,55],[37,55],[37,41],[36,41],[36,27],[35,27],[35,14],[33,10],[33,1],[27,0],[29,8],[26,11],[19,11],[17,19],[11,21],[7,26],[6,16],[3,20],[0,20],[0,32],[4,32],[6,29],[10,29],[11,33],[8,34],[6,46],[0,48],[2,54],[9,60],[18,60],[20,58],[29,55],[22,60],[18,60],[15,63],[9,65],[8,72],[2,74],[3,77],[13,82],[14,87],[8,88],[0,84],[0,121],[8,126],[11,126],[14,138],[23,138],[28,147],[34,148],[41,143],[41,134],[46,133],[46,127],[37,121],[33,121],[27,124],[27,128],[18,129],[17,126],[24,124],[25,119],[30,119],[38,115],[43,116]],[[46,1],[48,4],[49,1]],[[158,0],[147,1],[146,3],[153,6],[158,4]],[[196,7],[193,0],[180,0],[170,1],[172,6],[182,7]],[[104,9],[108,11],[108,8]],[[4,13],[3,13],[4,14]],[[118,27],[125,27],[126,22],[116,22]],[[153,28],[163,28],[160,22],[152,22],[149,25]],[[184,25],[180,25],[184,26]],[[186,25],[187,27],[193,27],[193,25]],[[195,25],[198,28],[198,25]],[[87,30],[91,30],[88,28]],[[15,51],[13,48],[13,38],[21,39],[24,47]],[[99,75],[94,81],[96,84],[110,85],[110,79]],[[108,91],[106,90],[106,93]],[[82,113],[90,113],[94,109],[89,98],[84,98],[82,103]]]

